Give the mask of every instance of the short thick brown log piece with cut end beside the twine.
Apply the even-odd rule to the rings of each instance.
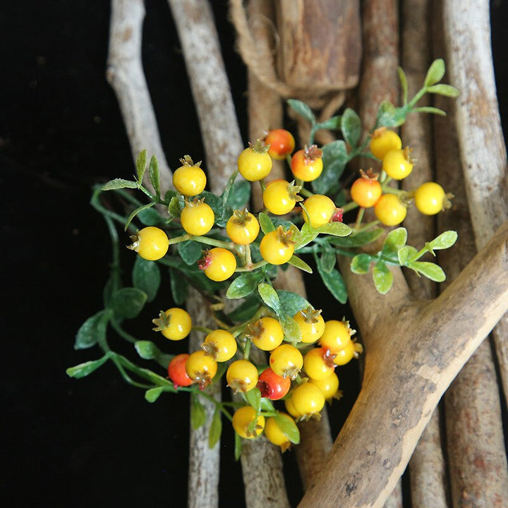
[[[277,2],[279,74],[312,95],[356,86],[361,63],[358,0]]]

